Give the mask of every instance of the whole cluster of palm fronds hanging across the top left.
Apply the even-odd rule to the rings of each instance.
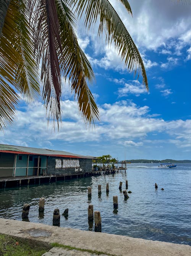
[[[120,2],[132,15],[128,1]],[[84,18],[87,30],[99,23],[98,35],[105,33],[106,43],[114,43],[127,69],[141,74],[148,89],[139,51],[108,0],[0,0],[0,130],[13,121],[19,94],[34,101],[41,83],[48,121],[59,125],[62,76],[69,78],[85,123],[99,119],[88,87],[94,73],[75,32],[77,17]]]

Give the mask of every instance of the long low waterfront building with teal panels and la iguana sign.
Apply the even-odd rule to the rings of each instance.
[[[0,144],[0,178],[89,173],[92,159],[65,151]]]

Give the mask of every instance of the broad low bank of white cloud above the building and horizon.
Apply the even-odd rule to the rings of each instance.
[[[118,101],[99,106],[101,122],[95,124],[95,129],[86,129],[78,113],[77,103],[67,100],[62,104],[63,121],[59,132],[52,131],[52,121],[47,128],[45,109],[39,103],[18,111],[13,125],[0,133],[0,143],[50,149],[55,149],[59,143],[60,150],[71,152],[75,152],[76,145],[79,145],[78,154],[86,152],[88,155],[102,154],[100,143],[105,152],[110,152],[112,148],[113,154],[121,147],[143,150],[150,148],[151,144],[158,148],[164,143],[179,149],[191,147],[191,120],[164,121],[159,118],[159,114],[151,114],[148,106]],[[149,134],[168,134],[169,139],[149,142]]]

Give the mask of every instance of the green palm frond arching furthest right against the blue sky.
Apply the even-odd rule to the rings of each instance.
[[[142,82],[148,90],[146,70],[140,53],[110,2],[108,0],[70,0],[70,3],[75,6],[78,17],[84,14],[85,25],[88,30],[99,19],[98,35],[100,36],[101,33],[105,32],[106,42],[114,43],[129,71],[134,70],[135,75],[138,71],[138,78],[142,74]]]

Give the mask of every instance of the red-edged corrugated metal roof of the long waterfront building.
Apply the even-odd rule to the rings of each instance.
[[[32,154],[32,155],[49,155],[60,157],[76,157],[94,159],[95,157],[77,155],[66,151],[52,150],[52,149],[37,149],[33,147],[21,147],[13,145],[0,144],[0,152],[17,153],[17,154]]]

